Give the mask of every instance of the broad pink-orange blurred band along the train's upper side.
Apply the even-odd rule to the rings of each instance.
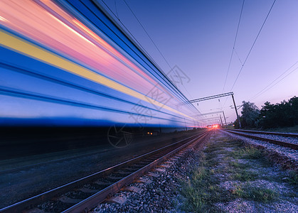
[[[41,2],[39,3],[41,4]],[[48,1],[49,3],[52,9],[55,9],[52,12],[56,13],[58,17],[63,18],[65,23],[53,16],[50,11],[43,9],[34,2],[16,0],[6,1],[6,4],[1,2],[0,4],[1,14],[9,20],[4,25],[33,38],[33,40],[38,40],[38,42],[54,50],[59,50],[60,53],[71,56],[76,61],[83,62],[85,65],[95,68],[97,72],[102,72],[114,80],[121,81],[123,84],[139,86],[134,88],[137,91],[143,90],[142,92],[146,92],[144,91],[146,87],[152,87],[152,84],[154,85],[155,82],[153,80],[151,80],[152,84],[145,81],[144,77],[146,79],[149,77],[144,76],[142,70],[137,69],[134,71],[142,74],[144,76],[143,78],[137,75],[137,73],[131,72],[132,67],[129,67],[129,65],[132,65],[132,63],[129,62],[129,64],[124,65],[123,62],[117,60],[118,58],[123,59],[123,57],[98,36],[93,36],[93,38],[96,38],[94,40],[80,31],[78,27],[83,26],[82,23],[74,26],[74,23],[79,22],[75,21],[74,18],[70,17],[64,11],[61,11],[58,6],[54,7],[52,2]],[[48,8],[48,10],[50,9]],[[34,11],[34,13],[28,13],[28,11]],[[89,37],[90,40],[86,37]],[[107,52],[108,50],[113,54],[109,54]],[[127,62],[127,60],[125,61]],[[137,68],[136,66],[134,67]],[[127,77],[127,73],[129,73],[130,77]],[[141,82],[139,82],[139,85],[136,85],[136,82],[133,82],[133,80]]]

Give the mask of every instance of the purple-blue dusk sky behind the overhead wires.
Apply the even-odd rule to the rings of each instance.
[[[190,78],[189,82],[179,85],[188,99],[231,91],[242,66],[240,60],[244,62],[247,57],[273,3],[273,0],[245,1],[235,52],[223,91],[243,1],[127,0],[169,65],[124,1],[104,1],[114,13],[118,13],[122,23],[164,72],[169,72],[169,65],[178,65]],[[99,2],[102,4],[102,1]],[[233,87],[236,104],[250,101],[261,108],[266,101],[277,103],[298,95],[298,69],[294,70],[298,67],[298,63],[294,65],[298,61],[297,10],[296,0],[276,1]],[[282,76],[277,79],[280,75]],[[286,75],[288,76],[285,77]],[[282,77],[284,79],[274,87],[267,92],[264,92],[265,89],[264,93],[253,98],[268,84]],[[228,97],[221,98],[220,102],[213,99],[195,106],[201,113],[223,109],[228,117],[227,121],[234,121],[236,116],[235,110],[230,109],[232,104],[231,97]]]

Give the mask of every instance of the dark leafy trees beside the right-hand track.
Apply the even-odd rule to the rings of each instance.
[[[298,125],[298,97],[294,96],[280,104],[265,102],[262,109],[243,101],[240,122],[243,128],[270,129]],[[234,122],[239,128],[238,120]]]

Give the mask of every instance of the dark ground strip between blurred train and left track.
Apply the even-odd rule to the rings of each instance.
[[[144,136],[124,148],[93,147],[92,153],[0,174],[0,209],[83,178],[156,148],[193,136],[196,131]],[[16,147],[18,148],[18,147]],[[97,149],[95,149],[97,148]],[[91,151],[90,147],[88,151]],[[82,151],[82,153],[85,153]],[[25,161],[25,159],[23,159]],[[38,162],[35,162],[38,163]]]

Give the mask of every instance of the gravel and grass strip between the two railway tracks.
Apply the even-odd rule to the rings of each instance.
[[[119,192],[126,202],[92,212],[297,212],[298,174],[255,146],[215,131],[171,167],[134,182],[142,192]]]

